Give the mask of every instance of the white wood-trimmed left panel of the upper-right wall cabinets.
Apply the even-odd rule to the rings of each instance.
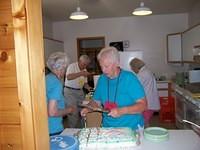
[[[173,33],[167,35],[167,62],[182,62],[182,34]]]

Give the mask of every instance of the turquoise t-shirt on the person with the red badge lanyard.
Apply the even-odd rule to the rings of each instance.
[[[145,92],[137,76],[132,72],[121,70],[120,75],[109,79],[105,74],[99,77],[93,99],[102,105],[106,101],[117,103],[119,108],[134,105],[138,99],[144,98]],[[143,126],[142,114],[125,114],[117,118],[103,113],[103,127],[130,127],[137,129]]]

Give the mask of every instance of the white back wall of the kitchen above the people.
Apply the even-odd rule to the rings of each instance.
[[[188,28],[187,14],[121,17],[86,21],[54,22],[54,38],[64,41],[64,49],[73,61],[77,58],[78,37],[105,36],[111,41],[129,40],[127,50],[142,50],[146,64],[157,75],[171,75],[183,67],[166,62],[166,35]]]

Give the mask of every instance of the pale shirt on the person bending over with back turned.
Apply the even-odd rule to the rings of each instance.
[[[139,70],[137,76],[144,87],[148,109],[159,110],[160,101],[153,73],[146,66],[144,66]]]

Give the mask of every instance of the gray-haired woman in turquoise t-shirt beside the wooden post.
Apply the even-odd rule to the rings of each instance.
[[[63,77],[69,64],[68,57],[63,52],[55,52],[47,60],[50,73],[46,75],[46,99],[48,109],[49,134],[60,134],[63,127],[63,116],[72,113],[72,107],[65,108],[63,95]]]

